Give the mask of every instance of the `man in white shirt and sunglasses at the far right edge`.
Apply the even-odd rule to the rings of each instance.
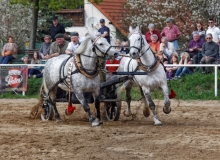
[[[206,35],[208,33],[212,34],[212,40],[215,43],[220,44],[220,29],[215,26],[215,22],[212,18],[209,19],[208,23],[209,23],[209,27],[208,30],[206,31]]]

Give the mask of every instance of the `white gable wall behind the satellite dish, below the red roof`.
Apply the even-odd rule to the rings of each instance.
[[[110,36],[111,36],[111,43],[114,45],[115,39],[116,39],[116,28],[112,24],[109,24],[109,20],[88,0],[84,0],[84,20],[85,20],[85,26],[82,27],[67,27],[65,30],[67,32],[74,32],[77,31],[79,33],[80,37],[85,36],[85,34],[89,31],[90,33],[95,33],[100,28],[100,19],[105,19],[105,25],[109,27],[110,29]],[[90,17],[94,17],[94,19],[97,19],[97,24],[94,27],[89,26],[88,19]],[[94,22],[94,21],[93,21]]]

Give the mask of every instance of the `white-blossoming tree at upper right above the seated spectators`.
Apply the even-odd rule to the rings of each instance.
[[[129,25],[142,26],[145,33],[149,23],[154,23],[161,30],[165,19],[171,17],[182,32],[182,39],[187,40],[197,22],[206,25],[210,17],[219,22],[219,3],[219,0],[127,0],[123,4],[125,12],[122,13],[122,21],[126,28]]]

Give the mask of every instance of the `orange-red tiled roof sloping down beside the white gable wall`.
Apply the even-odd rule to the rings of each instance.
[[[124,24],[121,22],[122,12],[125,10],[123,9],[123,3],[126,0],[104,0],[99,4],[96,4],[93,0],[91,3],[103,14],[105,15],[109,21],[124,35],[127,36],[128,32],[125,28]]]

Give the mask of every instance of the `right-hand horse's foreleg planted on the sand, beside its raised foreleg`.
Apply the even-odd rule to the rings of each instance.
[[[157,117],[156,110],[155,110],[155,103],[154,103],[154,101],[151,98],[150,92],[149,91],[148,92],[145,91],[144,93],[145,93],[146,100],[148,101],[150,110],[153,113],[154,125],[155,126],[162,126],[162,123],[159,121],[159,119]]]

